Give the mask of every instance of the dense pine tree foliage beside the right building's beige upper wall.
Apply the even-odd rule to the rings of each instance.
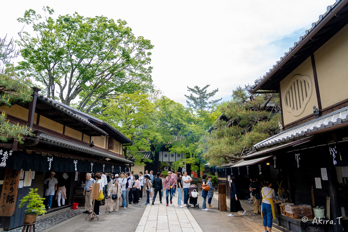
[[[238,87],[232,100],[220,107],[231,122],[216,121],[214,130],[199,141],[199,151],[211,166],[240,160],[252,152],[252,146],[279,129],[280,105],[278,94],[249,94],[248,89]]]

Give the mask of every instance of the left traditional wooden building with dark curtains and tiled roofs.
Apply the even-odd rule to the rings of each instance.
[[[24,144],[16,141],[0,144],[0,189],[4,190],[3,186],[11,178],[16,182],[11,194],[6,189],[1,193],[0,227],[4,230],[23,225],[25,213],[24,208],[18,208],[19,200],[30,188],[38,188],[39,194],[44,196],[43,183],[50,171],[54,171],[57,178],[63,173],[69,176],[65,204],[71,206],[72,202],[80,202],[83,206],[81,184],[87,172],[119,173],[133,165],[122,155],[122,146],[133,142],[120,131],[40,95],[38,88],[33,89],[33,100],[29,104],[0,106],[0,111],[5,112],[11,122],[28,125],[33,132],[33,136],[25,138]],[[7,176],[11,172],[14,175]],[[13,199],[5,199],[9,197]],[[56,206],[57,201],[53,201],[48,212]]]

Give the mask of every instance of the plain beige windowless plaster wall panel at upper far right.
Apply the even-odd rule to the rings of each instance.
[[[314,53],[323,109],[348,98],[347,54],[348,25]]]

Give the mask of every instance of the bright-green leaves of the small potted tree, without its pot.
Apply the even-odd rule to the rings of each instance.
[[[44,215],[46,213],[44,205],[45,198],[41,198],[37,191],[38,189],[30,189],[29,193],[23,197],[23,199],[19,200],[21,203],[19,204],[18,208],[21,208],[26,204],[27,209],[24,211],[27,214],[36,213],[38,215]]]

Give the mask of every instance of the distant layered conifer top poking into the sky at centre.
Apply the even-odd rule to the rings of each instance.
[[[205,87],[203,87],[202,89],[198,86],[195,86],[193,88],[187,87],[188,90],[196,95],[198,95],[197,97],[193,96],[193,94],[190,94],[190,96],[185,95],[185,97],[187,97],[188,100],[186,100],[186,103],[189,107],[192,107],[194,110],[196,111],[209,111],[213,108],[213,105],[216,104],[217,102],[221,101],[222,98],[220,99],[216,99],[213,101],[209,101],[208,99],[213,97],[217,91],[219,91],[219,89],[215,89],[210,93],[207,93],[207,88],[210,85],[206,85]]]

